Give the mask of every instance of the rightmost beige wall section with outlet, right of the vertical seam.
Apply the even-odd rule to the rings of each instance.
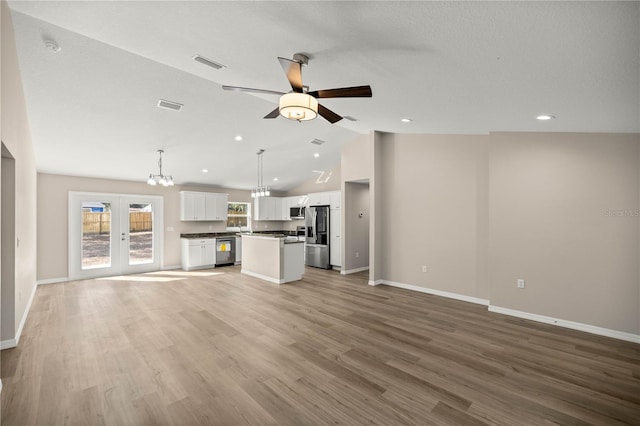
[[[638,134],[492,133],[491,305],[640,334],[639,175]]]

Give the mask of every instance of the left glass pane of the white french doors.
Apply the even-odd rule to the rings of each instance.
[[[82,269],[111,266],[111,203],[82,202]]]

